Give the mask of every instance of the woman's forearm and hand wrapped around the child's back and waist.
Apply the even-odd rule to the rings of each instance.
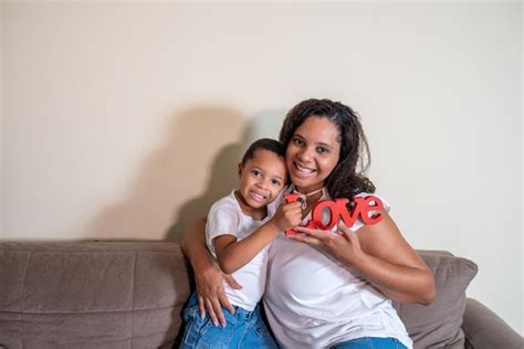
[[[200,316],[205,317],[207,309],[214,326],[218,326],[219,321],[222,326],[226,326],[226,318],[221,306],[231,314],[234,313],[234,309],[223,290],[223,281],[226,279],[233,288],[239,289],[242,286],[231,276],[223,274],[214,258],[209,254],[206,247],[205,219],[195,221],[189,225],[184,235],[181,246],[195,272]]]

